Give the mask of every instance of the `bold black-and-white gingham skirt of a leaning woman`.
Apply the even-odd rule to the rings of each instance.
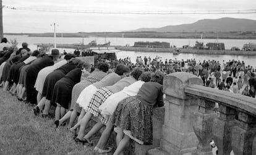
[[[108,88],[103,87],[98,89],[96,93],[93,94],[89,105],[85,108],[85,111],[92,113],[94,117],[98,117],[100,120],[104,119],[100,114],[98,107],[100,107],[100,105],[103,104],[111,94],[113,94],[113,92]]]

